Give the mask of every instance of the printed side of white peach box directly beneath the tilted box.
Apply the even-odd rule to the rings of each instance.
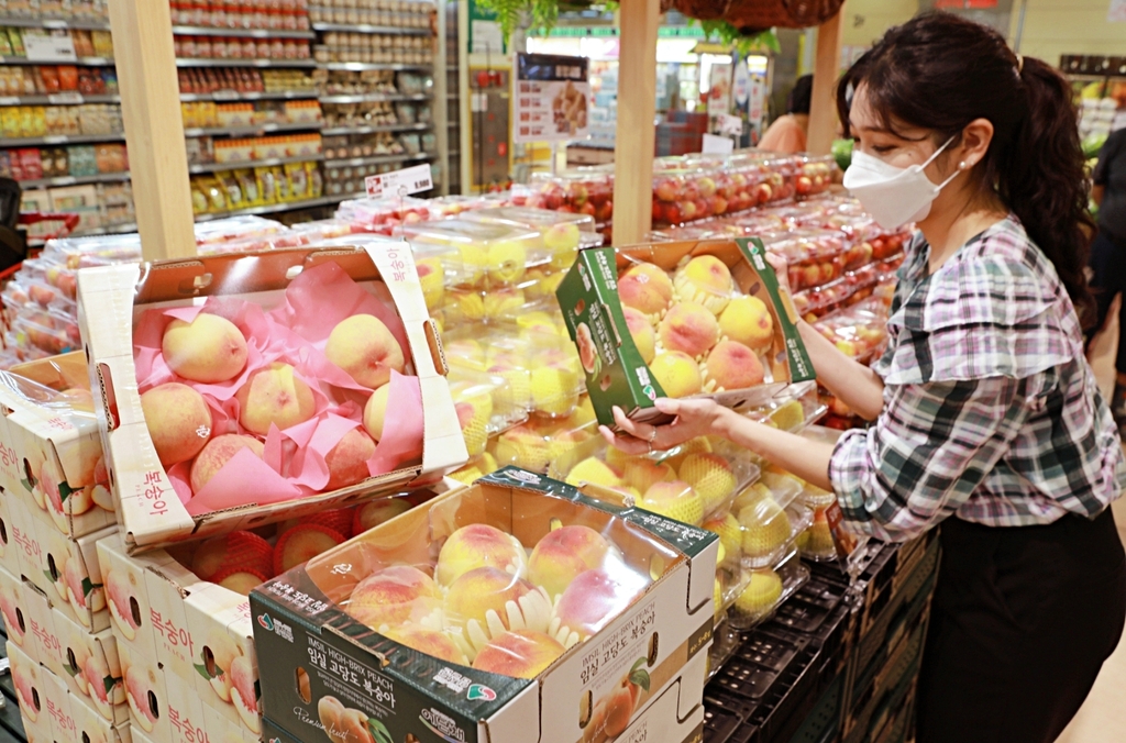
[[[119,536],[98,544],[119,646],[159,665],[209,717],[261,733],[258,664],[244,596],[200,581],[163,549],[129,555]]]

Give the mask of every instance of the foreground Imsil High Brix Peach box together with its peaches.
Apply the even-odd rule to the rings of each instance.
[[[669,684],[691,705],[711,644],[714,539],[656,514],[589,503],[563,483],[501,469],[256,589],[254,616],[307,617],[293,624],[293,643],[256,625],[262,702],[279,710],[271,724],[300,731],[302,719],[319,719],[346,729],[366,720],[394,740],[417,725],[384,714],[363,679],[341,684],[327,664],[311,663],[315,646],[365,666],[384,659],[379,673],[394,682],[396,704],[432,709],[430,718],[450,725],[461,717],[450,717],[444,691],[400,679],[445,666],[441,678],[459,688],[488,687],[491,711],[461,724],[512,743],[582,740],[590,725],[617,736],[663,704]],[[677,548],[658,534],[677,534]],[[323,598],[295,601],[283,584]],[[348,639],[312,628],[325,624]],[[611,636],[618,662],[591,673],[590,651]],[[521,693],[537,687],[542,693]]]

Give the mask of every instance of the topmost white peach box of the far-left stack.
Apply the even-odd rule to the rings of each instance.
[[[80,351],[10,369],[65,397],[36,401],[18,385],[0,385],[0,485],[46,513],[60,532],[82,537],[117,519],[101,460],[101,436]],[[15,467],[10,462],[15,462]]]

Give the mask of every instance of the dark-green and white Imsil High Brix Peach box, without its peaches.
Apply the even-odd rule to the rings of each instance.
[[[345,601],[374,570],[421,565],[456,529],[488,523],[536,544],[557,526],[584,525],[652,579],[640,598],[533,680],[447,663],[400,645],[346,614]],[[374,740],[575,743],[600,702],[647,671],[627,719],[661,689],[701,698],[712,642],[715,535],[588,499],[542,475],[506,467],[392,519],[256,588],[250,596],[268,729],[322,734],[321,702],[361,716]],[[330,724],[336,724],[330,720]],[[624,726],[624,723],[623,723]],[[314,732],[318,731],[318,732]]]

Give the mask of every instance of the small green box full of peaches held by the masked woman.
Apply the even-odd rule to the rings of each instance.
[[[752,241],[588,249],[556,290],[600,422],[661,420],[658,396],[761,405],[813,378],[781,288]]]

